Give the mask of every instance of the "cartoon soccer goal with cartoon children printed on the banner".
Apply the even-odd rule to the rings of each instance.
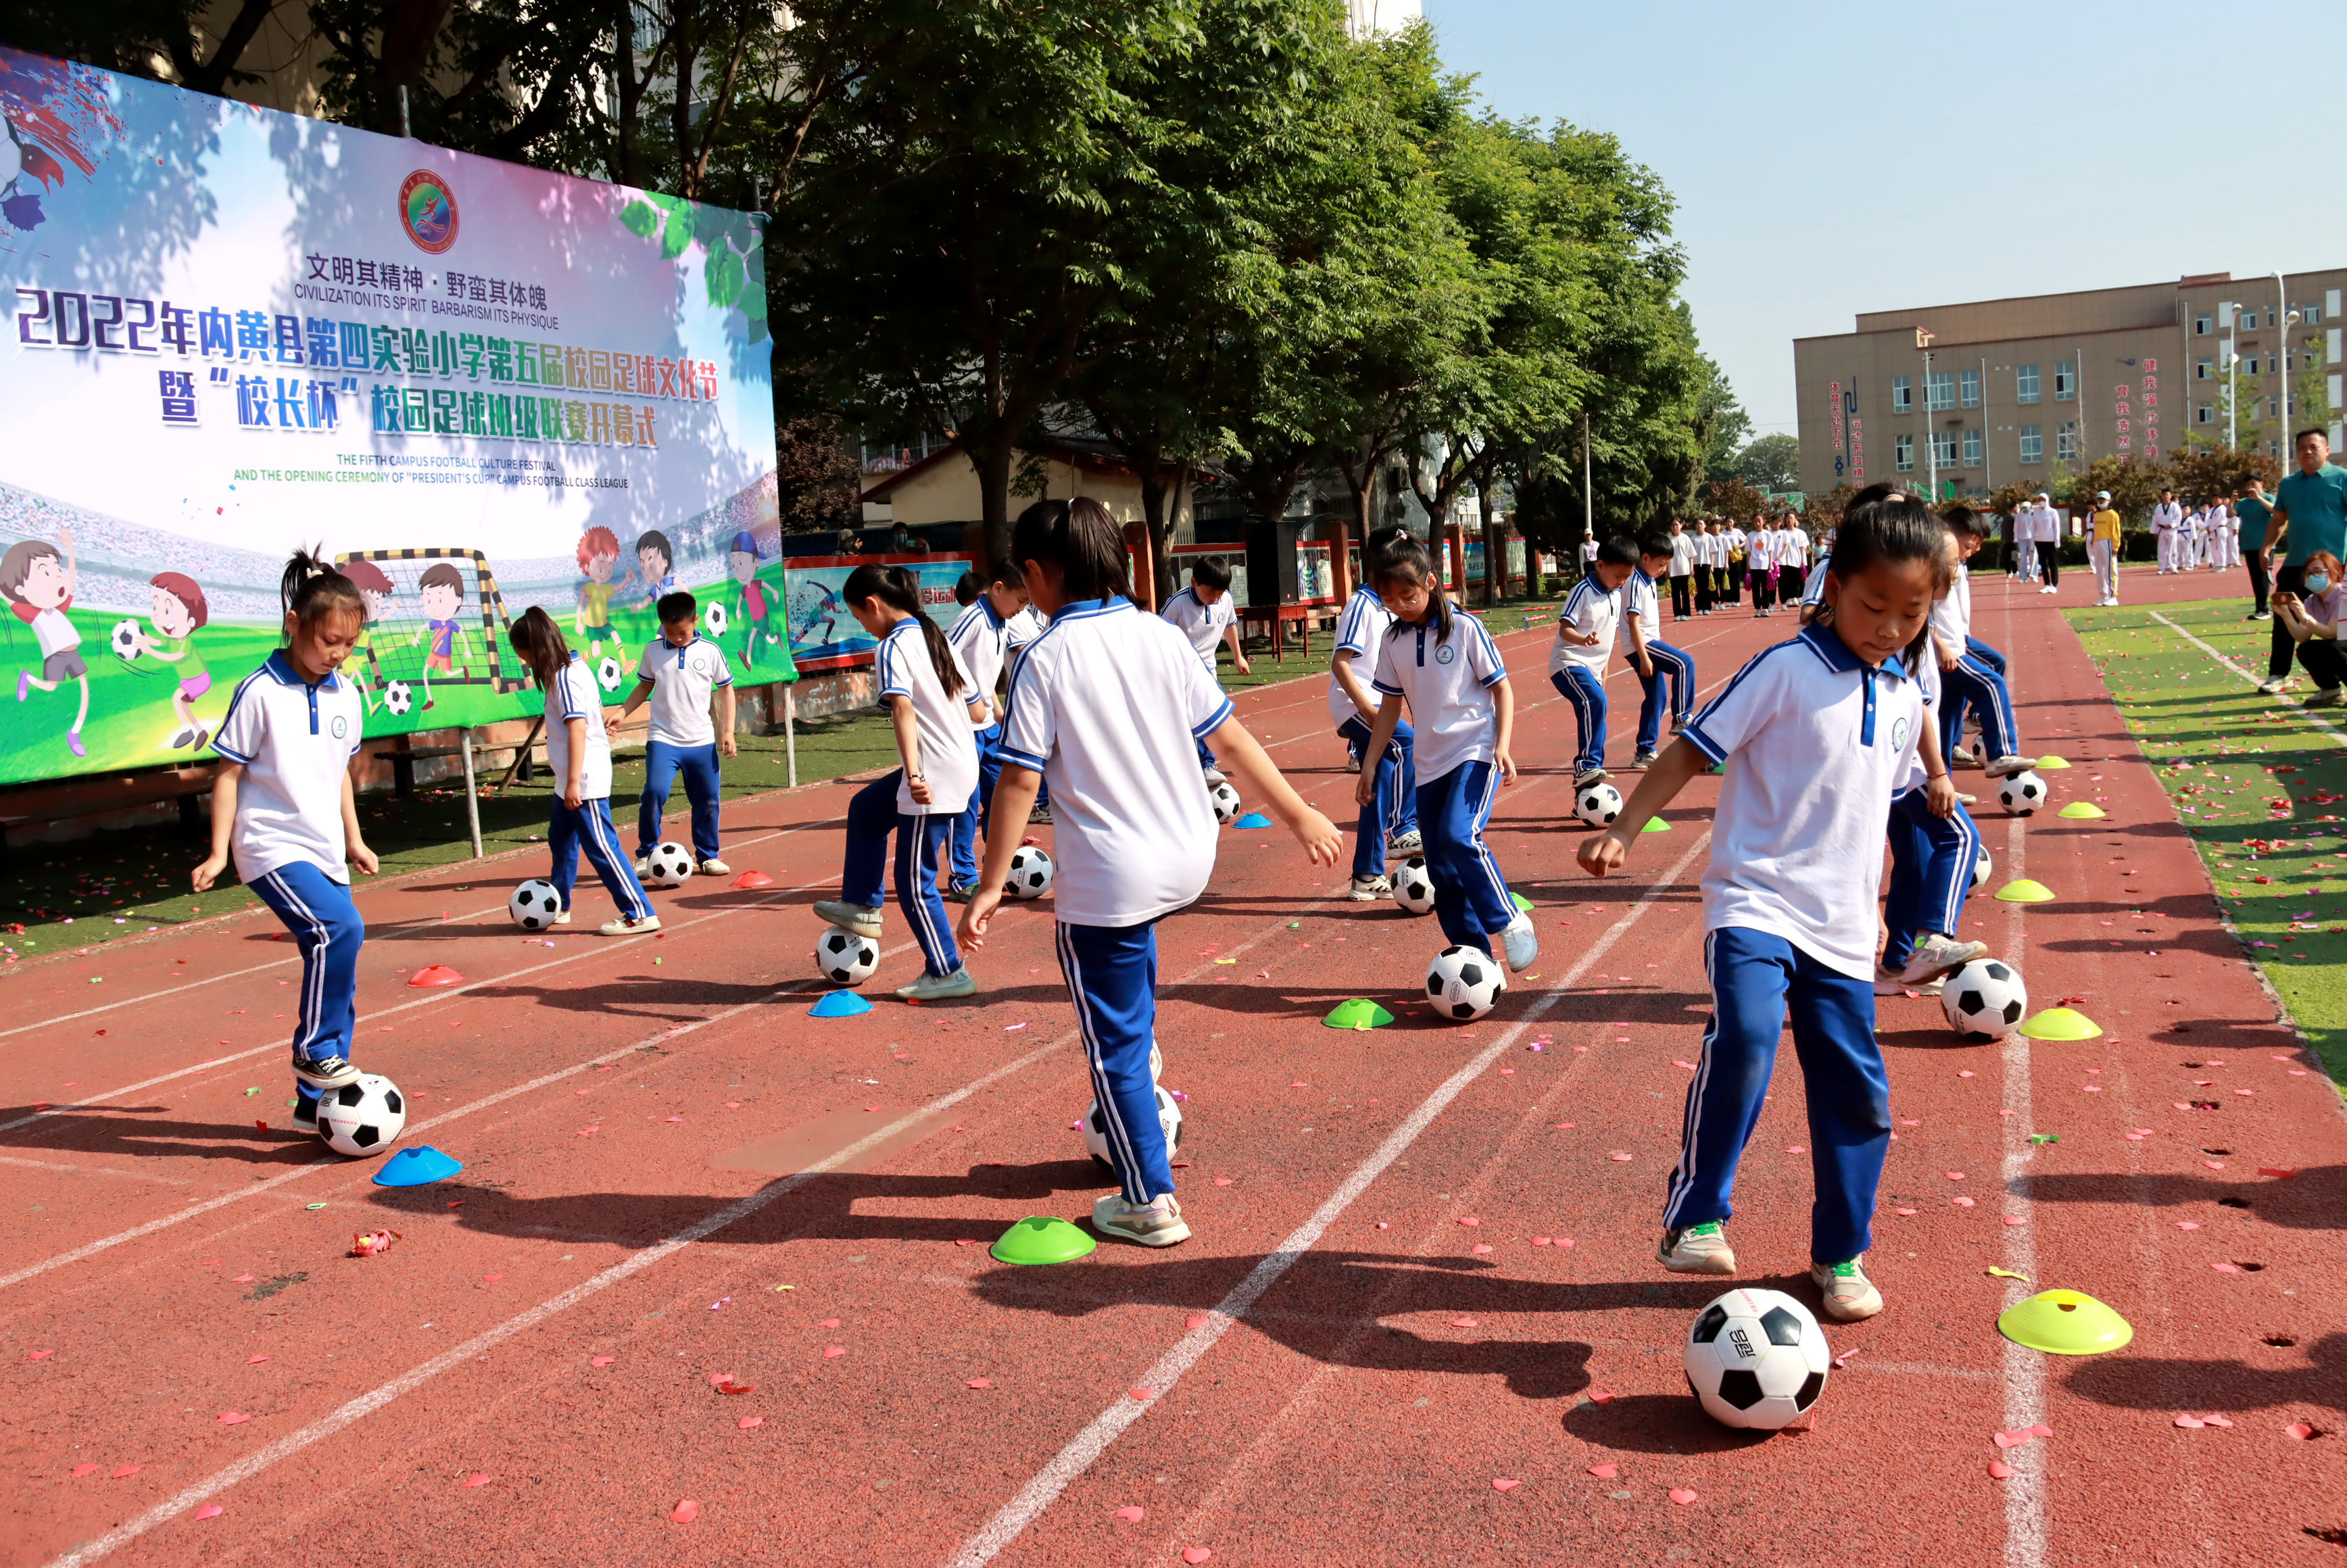
[[[406,718],[446,685],[505,695],[530,683],[505,643],[505,596],[479,549],[357,549],[336,566],[366,599],[366,629],[345,669],[368,714],[383,707]]]

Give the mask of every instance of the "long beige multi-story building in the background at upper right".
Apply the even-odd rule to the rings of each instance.
[[[2187,444],[2281,455],[2340,441],[2347,268],[1873,310],[1793,340],[1805,491],[1880,479],[1941,495],[2047,484],[2096,458]],[[2284,298],[2286,291],[2286,298]]]

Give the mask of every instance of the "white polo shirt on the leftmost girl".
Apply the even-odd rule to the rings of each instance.
[[[279,866],[317,866],[350,883],[343,779],[359,749],[359,688],[338,674],[310,685],[279,648],[237,681],[211,749],[244,763],[237,826],[228,838],[237,876],[253,883]]]

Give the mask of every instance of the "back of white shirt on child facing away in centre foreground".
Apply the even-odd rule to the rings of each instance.
[[[1051,786],[1054,913],[1141,925],[1213,876],[1216,824],[1197,742],[1230,697],[1181,631],[1129,599],[1070,603],[1012,671],[1002,761]]]

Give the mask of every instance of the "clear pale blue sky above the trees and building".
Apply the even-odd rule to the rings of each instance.
[[[1756,432],[1793,432],[1793,338],[1859,310],[2347,265],[2335,5],[1425,9],[1502,115],[1612,131],[1662,174]]]

